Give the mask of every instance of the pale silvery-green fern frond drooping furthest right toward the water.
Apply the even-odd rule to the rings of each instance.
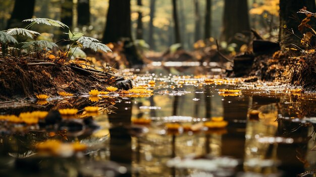
[[[105,52],[112,51],[107,45],[102,44],[101,41],[92,37],[82,36],[78,39],[77,42],[81,45],[82,48],[91,48],[94,51],[97,51],[97,50],[101,50]]]

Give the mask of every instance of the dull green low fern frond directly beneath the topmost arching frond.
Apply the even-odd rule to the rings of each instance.
[[[53,47],[58,47],[56,43],[47,40],[34,40],[30,42],[22,42],[22,44],[21,48],[27,51],[40,51],[43,49],[51,50]]]

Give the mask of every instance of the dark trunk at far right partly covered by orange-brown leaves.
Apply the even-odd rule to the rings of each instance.
[[[303,35],[299,32],[298,25],[306,16],[304,14],[297,14],[297,12],[303,7],[306,7],[307,11],[316,12],[314,0],[280,0],[280,26],[283,27],[286,25],[288,29],[293,30],[294,34],[299,37],[303,37]],[[293,19],[293,16],[296,18]],[[308,24],[315,29],[316,23],[314,19],[311,19]],[[282,28],[279,33],[279,41],[300,45],[300,39],[298,37],[288,33]]]

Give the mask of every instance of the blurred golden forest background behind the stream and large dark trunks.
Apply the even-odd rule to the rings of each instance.
[[[0,1],[0,30],[26,26],[10,21],[15,3],[23,7],[20,11],[25,16],[23,19],[60,20],[72,31],[100,40],[106,28],[109,0],[16,0]],[[205,42],[200,41],[205,39],[211,45],[215,45],[214,39],[219,39],[223,48],[235,51],[238,47],[239,51],[242,50],[241,45],[236,45],[234,40],[246,43],[250,28],[257,30],[265,39],[278,40],[278,0],[130,0],[130,4],[133,39],[138,39],[135,41],[155,51],[165,51],[175,43],[181,43],[184,49],[191,50],[203,47]],[[32,7],[33,13],[28,12]],[[178,25],[173,20],[174,10]],[[179,36],[175,35],[175,28]],[[236,34],[234,29],[240,33]],[[52,30],[59,29],[36,26],[32,30],[58,34],[58,31]]]

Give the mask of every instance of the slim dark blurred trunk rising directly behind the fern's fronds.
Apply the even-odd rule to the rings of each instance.
[[[72,0],[63,0],[62,1],[62,12],[61,12],[61,22],[65,23],[71,29],[72,27]]]

